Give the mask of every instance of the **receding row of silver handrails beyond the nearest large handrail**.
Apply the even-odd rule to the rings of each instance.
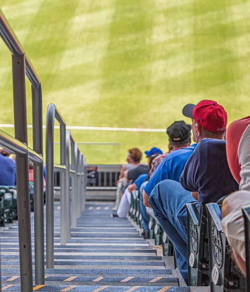
[[[59,165],[54,164],[55,119],[60,124]],[[66,131],[66,124],[59,110],[54,104],[50,104],[46,121],[46,267],[49,269],[54,268],[54,171],[60,172],[60,242],[66,245],[67,238],[71,238],[71,226],[75,227],[76,219],[80,217],[85,204],[84,159],[70,131]],[[70,177],[72,177],[71,198]]]

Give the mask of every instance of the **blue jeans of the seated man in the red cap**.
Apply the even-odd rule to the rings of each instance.
[[[187,203],[198,202],[180,183],[165,180],[158,183],[149,197],[155,216],[175,247],[179,271],[188,285]]]

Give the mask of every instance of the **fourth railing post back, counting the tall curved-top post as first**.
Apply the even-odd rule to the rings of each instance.
[[[71,169],[75,171],[75,174],[71,177],[71,226],[76,227],[76,202],[77,202],[77,173],[76,173],[76,157],[75,157],[75,143],[71,139]]]

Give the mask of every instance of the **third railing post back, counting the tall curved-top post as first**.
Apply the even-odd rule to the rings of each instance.
[[[65,191],[66,191],[66,237],[71,238],[71,198],[70,198],[70,142],[71,132],[66,131],[66,180],[65,180]]]

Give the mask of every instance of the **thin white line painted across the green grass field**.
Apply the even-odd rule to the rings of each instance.
[[[15,128],[13,124],[0,124],[0,128]],[[32,125],[28,125],[27,128],[33,128]],[[46,126],[43,126],[45,129]],[[60,126],[54,126],[55,129],[59,129]],[[150,128],[110,128],[110,127],[84,127],[84,126],[66,126],[68,130],[91,130],[91,131],[119,131],[119,132],[166,132],[166,129],[150,129]]]

